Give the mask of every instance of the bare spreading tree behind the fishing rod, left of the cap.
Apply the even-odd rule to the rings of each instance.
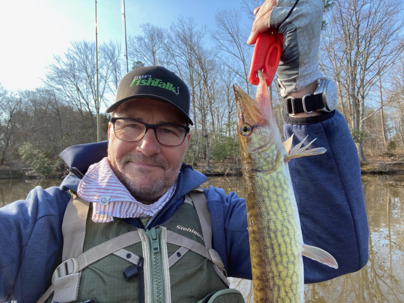
[[[104,104],[105,94],[111,92],[111,75],[115,86],[120,73],[118,49],[111,45],[113,44],[100,45],[98,52],[98,95]],[[95,43],[73,42],[63,57],[54,57],[45,81],[54,89],[58,98],[75,107],[81,114],[83,123],[89,123],[93,131],[96,129],[94,113],[97,100],[95,63]]]

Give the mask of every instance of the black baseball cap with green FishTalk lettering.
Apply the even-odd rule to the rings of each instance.
[[[162,66],[137,68],[127,73],[119,82],[115,103],[107,109],[112,113],[121,104],[133,99],[150,98],[171,104],[193,125],[190,112],[188,86],[173,72]]]

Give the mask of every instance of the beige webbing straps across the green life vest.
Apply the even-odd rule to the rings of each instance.
[[[198,186],[186,194],[185,203],[192,204],[196,210],[205,246],[167,230],[167,243],[179,246],[174,254],[168,257],[168,267],[172,267],[187,251],[191,250],[211,261],[218,276],[229,286],[223,262],[219,254],[212,248],[212,222],[203,187]],[[140,257],[124,247],[142,241],[139,230],[127,232],[83,252],[89,205],[88,201],[81,199],[76,193],[72,193],[62,224],[63,262],[55,270],[53,284],[37,303],[44,303],[52,294],[54,294],[54,300],[58,302],[76,301],[82,270],[108,255],[114,254],[134,265],[138,264]]]

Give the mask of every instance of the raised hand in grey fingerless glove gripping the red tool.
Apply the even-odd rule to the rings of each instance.
[[[266,0],[255,9],[256,17],[247,40],[248,44],[254,44],[269,27],[283,34],[283,54],[277,70],[283,96],[322,77],[318,52],[324,4],[322,0],[299,0],[291,11],[294,4],[295,0]]]

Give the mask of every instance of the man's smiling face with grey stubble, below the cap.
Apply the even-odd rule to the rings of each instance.
[[[148,124],[186,125],[173,106],[155,99],[136,99],[119,106],[114,117],[132,118]],[[174,183],[189,145],[189,133],[179,146],[161,145],[153,129],[137,142],[119,140],[108,127],[108,159],[112,170],[129,192],[144,204],[154,203]]]

